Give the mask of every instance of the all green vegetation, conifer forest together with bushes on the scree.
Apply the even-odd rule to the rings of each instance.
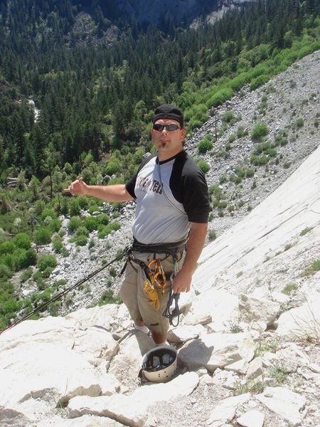
[[[78,176],[90,184],[102,184],[105,176],[111,176],[110,183],[129,179],[153,150],[149,129],[156,105],[176,103],[185,111],[188,129],[196,129],[245,85],[254,90],[320,48],[316,1],[279,0],[267,8],[252,2],[198,29],[176,26],[171,19],[161,28],[134,21],[116,28],[107,15],[112,5],[106,5],[88,6],[92,26],[85,33],[75,31],[75,21],[82,19],[79,3],[33,2],[32,11],[27,0],[1,4],[0,325],[55,292],[47,280],[55,257],[44,263],[36,249],[52,243],[55,254],[68,255],[60,215],[71,217],[69,238],[88,248],[90,231],[105,238],[120,228],[115,220],[121,204],[114,204],[111,219],[105,214],[80,218],[82,209],[102,212],[102,202],[70,197],[63,188]],[[252,26],[258,19],[260,25]],[[267,86],[265,95],[274,90]],[[29,98],[40,112],[36,120]],[[260,112],[266,102],[263,97]],[[314,127],[319,117],[320,112]],[[219,135],[239,118],[225,112]],[[292,121],[296,130],[303,125],[299,117]],[[239,126],[236,137],[248,132]],[[288,142],[285,132],[274,144],[265,142],[268,133],[267,125],[257,123],[250,134],[262,144],[252,154],[254,166],[267,164],[276,147]],[[231,135],[216,157],[228,156],[234,141]],[[199,153],[210,151],[213,142],[208,135]],[[210,168],[203,159],[199,166],[205,173]],[[237,169],[230,179],[240,184],[254,174],[254,168]],[[12,176],[16,184],[9,187]],[[220,184],[227,181],[220,178]],[[219,216],[227,207],[232,214],[241,206],[228,206],[218,189],[211,196]],[[10,281],[18,271],[22,283],[33,280],[41,291],[23,300],[23,307]],[[58,304],[50,307],[53,314],[57,310]]]

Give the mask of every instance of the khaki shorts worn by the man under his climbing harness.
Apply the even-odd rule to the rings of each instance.
[[[171,290],[171,273],[174,272],[174,259],[172,255],[166,255],[164,253],[142,253],[133,252],[134,258],[144,261],[149,264],[154,258],[161,260],[166,273],[167,281],[166,288],[164,289],[164,295],[162,295],[161,289],[157,289],[160,308],[156,310],[154,306],[149,304],[148,295],[144,291],[144,282],[146,281],[146,275],[143,268],[137,263],[130,263],[128,261],[127,268],[125,271],[124,280],[120,288],[120,296],[122,301],[127,306],[129,313],[134,323],[144,322],[144,325],[149,327],[152,332],[156,334],[166,334],[169,330],[169,319],[164,317],[162,313],[166,308],[166,304],[169,300]],[[178,257],[178,270],[181,269],[183,260],[186,256],[186,251],[177,253]]]

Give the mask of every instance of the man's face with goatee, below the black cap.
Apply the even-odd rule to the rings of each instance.
[[[180,128],[180,123],[173,119],[159,119],[154,125],[178,125],[177,130],[169,131],[164,127],[163,130],[155,130],[151,127],[151,139],[158,149],[159,160],[166,160],[174,157],[181,152],[183,139],[186,137],[186,130]]]

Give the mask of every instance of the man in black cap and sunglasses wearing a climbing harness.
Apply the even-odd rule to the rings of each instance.
[[[77,179],[71,194],[110,202],[137,200],[134,244],[120,295],[137,330],[151,330],[156,345],[166,342],[164,317],[171,291],[188,292],[201,254],[210,211],[205,176],[183,149],[183,113],[174,105],[154,112],[151,139],[157,149],[126,184],[89,186]]]

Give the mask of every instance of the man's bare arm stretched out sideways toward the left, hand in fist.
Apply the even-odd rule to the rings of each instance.
[[[64,191],[69,191],[71,194],[80,194],[97,197],[111,202],[121,202],[133,200],[133,197],[128,193],[125,184],[114,185],[87,185],[82,178],[76,179]]]

